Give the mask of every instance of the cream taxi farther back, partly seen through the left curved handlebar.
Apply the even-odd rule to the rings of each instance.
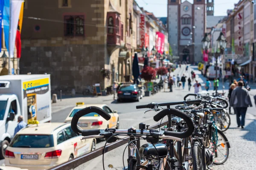
[[[105,129],[105,128],[119,128],[119,115],[116,111],[113,111],[108,105],[99,105],[99,104],[88,104],[84,105],[84,103],[76,103],[76,107],[72,109],[72,111],[68,114],[65,122],[71,122],[73,116],[76,112],[80,111],[83,108],[87,108],[90,106],[96,106],[102,108],[108,114],[111,115],[111,119],[105,120],[102,116],[99,116],[97,113],[90,113],[84,115],[79,119],[77,125],[79,125],[82,129]]]

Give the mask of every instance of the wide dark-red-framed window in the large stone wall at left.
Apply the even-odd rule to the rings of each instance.
[[[84,35],[84,16],[64,16],[65,36],[83,36]]]

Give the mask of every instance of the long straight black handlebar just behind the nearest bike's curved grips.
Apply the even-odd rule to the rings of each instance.
[[[182,104],[198,104],[201,103],[202,100],[188,100],[188,101],[183,101],[183,102],[169,102],[169,103],[149,103],[147,105],[138,105],[136,106],[137,109],[143,109],[143,108],[150,108],[153,109],[155,108],[157,105],[158,106],[171,106],[171,105],[182,105]]]

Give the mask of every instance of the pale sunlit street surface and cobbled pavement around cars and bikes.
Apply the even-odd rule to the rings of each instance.
[[[193,68],[193,67],[192,67]],[[190,75],[191,67],[189,71],[186,73],[187,76]],[[175,76],[177,74],[183,74],[185,72],[185,65],[182,65],[181,68],[178,68],[175,71]],[[200,74],[196,72],[197,74]],[[203,83],[205,80],[200,75],[196,77],[199,82]],[[154,125],[157,122],[154,122],[153,116],[156,114],[153,111],[147,112],[144,114],[144,111],[147,109],[137,110],[136,105],[144,105],[150,102],[177,102],[183,101],[183,96],[188,93],[193,93],[194,89],[188,91],[188,86],[186,83],[185,89],[173,88],[173,92],[166,89],[166,92],[159,92],[154,96],[144,97],[140,102],[124,102],[124,103],[116,103],[113,101],[111,96],[103,96],[103,97],[95,97],[95,98],[71,98],[71,99],[63,99],[62,102],[58,102],[57,104],[53,104],[53,109],[55,109],[55,113],[52,113],[52,122],[64,122],[64,119],[67,117],[68,113],[70,113],[71,109],[74,107],[76,102],[84,102],[88,104],[94,103],[104,103],[109,105],[113,110],[118,111],[119,119],[120,119],[120,128],[127,129],[129,127],[137,128],[140,122],[145,122],[147,125]],[[227,90],[225,90],[227,91]],[[252,90],[253,92],[254,90]],[[213,91],[210,91],[213,92]],[[254,102],[253,102],[254,103]],[[63,108],[63,109],[61,109]],[[254,130],[256,129],[256,120],[252,114],[255,114],[255,105],[254,108],[248,109],[248,114],[246,117],[246,126],[244,130],[236,128],[236,117],[235,115],[231,116],[231,126],[230,129],[225,132],[228,140],[230,141],[230,156],[227,162],[223,165],[213,166],[211,167],[213,170],[235,170],[235,169],[244,169],[246,166],[247,170],[254,170],[253,162],[255,162],[256,156],[252,150],[256,150],[256,135]],[[250,114],[249,114],[250,113]],[[145,142],[144,142],[145,143]],[[105,143],[99,142],[96,147],[102,147]],[[143,142],[142,142],[143,144]],[[124,151],[125,145],[118,147],[111,152],[105,154],[104,162],[105,162],[105,170],[110,170],[108,168],[108,164],[112,164],[116,167],[117,170],[122,170],[122,154]],[[125,152],[125,165],[127,165],[127,150]],[[3,162],[3,161],[2,161]],[[76,167],[75,170],[102,170],[102,156],[99,156],[91,161],[88,161],[84,164],[81,164],[79,167]]]

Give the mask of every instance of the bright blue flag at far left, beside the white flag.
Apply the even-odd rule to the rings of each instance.
[[[10,27],[10,0],[4,0],[3,6],[3,31],[6,48],[9,51],[9,27]]]

